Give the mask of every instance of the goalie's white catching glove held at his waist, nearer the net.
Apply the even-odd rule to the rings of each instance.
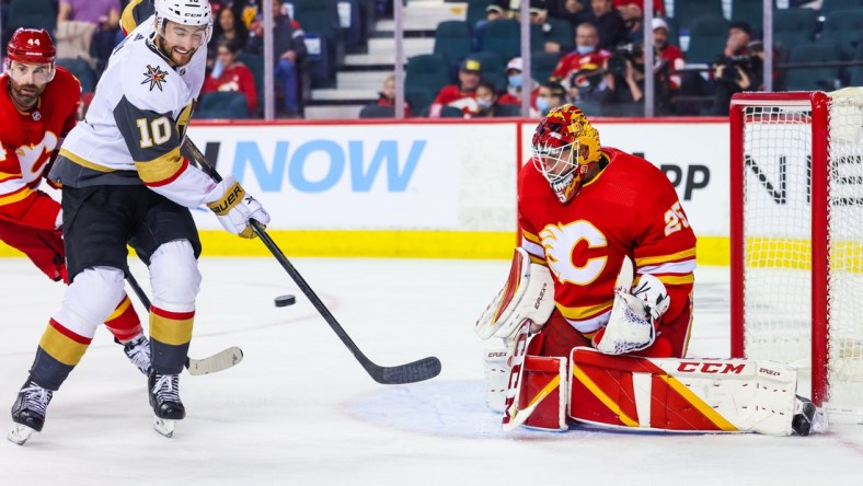
[[[629,256],[614,285],[614,304],[606,327],[594,336],[594,347],[607,355],[641,351],[653,345],[659,317],[668,310],[671,298],[659,279],[642,275],[632,289],[633,268]]]

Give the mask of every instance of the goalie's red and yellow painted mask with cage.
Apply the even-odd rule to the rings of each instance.
[[[587,171],[599,162],[599,132],[585,114],[566,104],[552,108],[537,126],[531,161],[561,202],[568,202],[582,187]]]

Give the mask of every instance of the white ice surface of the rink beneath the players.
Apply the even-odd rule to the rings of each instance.
[[[181,378],[188,415],[152,430],[145,378],[100,328],[45,429],[0,443],[0,485],[863,484],[863,426],[809,438],[519,430],[484,406],[473,322],[508,262],[294,262],[375,362],[437,356],[428,382],[375,383],[271,258],[202,258],[191,355],[237,368]],[[146,286],[146,269],[133,267]],[[728,271],[700,268],[691,356],[728,355]],[[273,299],[297,294],[297,304]],[[11,407],[62,286],[0,259],[0,404]],[[137,305],[139,313],[141,306]],[[8,409],[8,408],[4,408]],[[5,424],[5,425],[3,425]],[[11,419],[0,414],[5,435]]]

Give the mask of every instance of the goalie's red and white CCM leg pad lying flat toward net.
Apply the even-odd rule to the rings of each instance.
[[[575,348],[569,416],[631,430],[792,433],[797,372],[773,361],[608,356]]]

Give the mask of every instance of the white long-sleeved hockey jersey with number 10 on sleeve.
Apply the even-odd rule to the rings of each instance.
[[[153,45],[154,36],[151,16],[114,49],[85,119],[64,141],[51,180],[71,187],[146,184],[173,193],[164,195],[184,206],[200,202],[200,194],[176,193],[210,185],[180,154],[204,83],[206,45],[175,69]]]

